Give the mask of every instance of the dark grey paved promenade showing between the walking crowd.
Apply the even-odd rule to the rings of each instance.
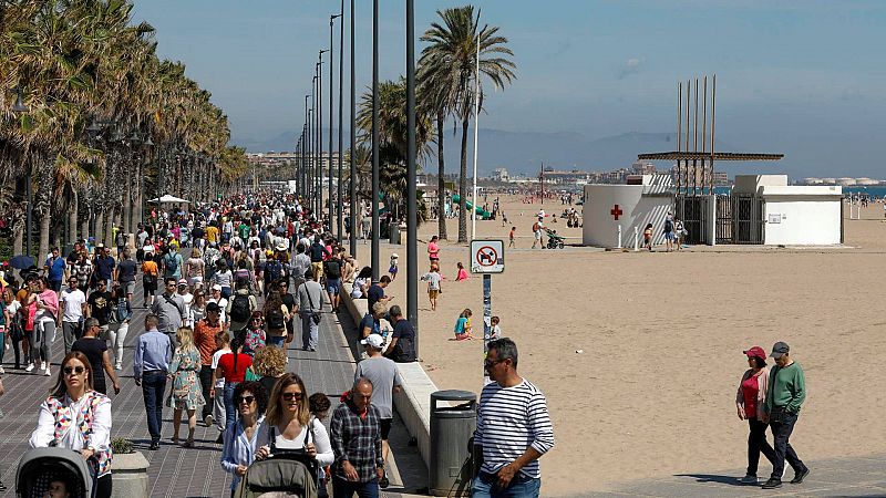
[[[141,279],[140,279],[141,280]],[[141,283],[136,289],[134,302],[141,303]],[[326,307],[324,307],[326,308]],[[326,308],[328,310],[328,308]],[[223,497],[228,496],[230,486],[230,475],[222,470],[218,460],[222,455],[222,446],[216,444],[218,432],[215,427],[206,428],[202,422],[197,423],[195,433],[195,447],[185,449],[173,445],[169,440],[172,436],[172,409],[164,409],[163,434],[164,440],[161,449],[151,452],[147,449],[150,436],[147,434],[147,423],[142,402],[142,390],[136,386],[132,377],[133,347],[138,335],[144,331],[144,318],[147,310],[138,308],[132,320],[130,333],[125,343],[125,361],[121,375],[121,393],[111,395],[113,407],[113,429],[111,437],[123,437],[135,444],[135,449],[142,452],[151,463],[148,468],[150,484],[148,491],[152,497]],[[339,318],[344,320],[339,323]],[[310,393],[326,393],[332,406],[338,404],[338,398],[346,390],[350,388],[353,381],[356,369],[354,356],[352,354],[353,344],[349,345],[342,330],[354,329],[351,319],[347,313],[339,317],[324,313],[320,324],[320,342],[316,353],[302,352],[300,349],[289,350],[288,370],[297,372],[305,380]],[[296,332],[296,341],[290,344],[295,347],[300,339],[300,332]],[[356,332],[352,334],[356,336]],[[63,357],[64,345],[61,333],[56,334],[53,344],[53,373],[58,373],[59,362]],[[11,353],[11,350],[8,352]],[[8,491],[0,496],[14,496],[16,468],[19,458],[27,452],[28,438],[35,426],[37,413],[40,402],[42,402],[52,387],[55,376],[45,377],[42,375],[28,374],[24,371],[12,370],[11,354],[4,357],[7,374],[3,376],[3,384],[7,394],[0,397],[0,409],[6,413],[6,417],[0,421],[0,480],[2,480]],[[329,419],[324,421],[327,426]],[[186,421],[179,432],[182,436],[187,435]],[[400,442],[409,439],[405,427],[402,423],[395,423],[391,435],[392,439]],[[406,447],[402,444],[401,447]],[[418,453],[409,455],[405,452],[403,458],[414,459]],[[401,458],[402,459],[402,458]],[[396,464],[392,461],[393,471],[389,470],[391,478],[390,491],[383,496],[398,497],[398,491],[404,490]],[[423,483],[411,483],[408,488],[415,489],[423,486]]]

